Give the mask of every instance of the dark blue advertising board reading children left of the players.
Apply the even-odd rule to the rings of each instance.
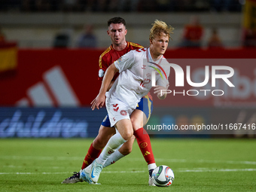
[[[0,138],[96,137],[105,114],[90,108],[0,108]]]

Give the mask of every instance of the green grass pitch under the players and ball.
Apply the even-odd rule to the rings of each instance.
[[[255,191],[254,139],[151,139],[170,187],[148,186],[148,167],[133,152],[103,169],[101,185],[60,184],[79,171],[92,139],[0,139],[0,191]],[[17,172],[19,174],[17,174]]]

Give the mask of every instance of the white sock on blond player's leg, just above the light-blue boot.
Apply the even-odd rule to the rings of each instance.
[[[108,157],[110,157],[110,155],[113,154],[114,151],[116,151],[117,148],[125,142],[126,140],[123,139],[120,133],[116,133],[114,136],[111,136],[111,139],[108,140],[108,143],[102,150],[102,153],[96,159],[97,163],[104,165]]]

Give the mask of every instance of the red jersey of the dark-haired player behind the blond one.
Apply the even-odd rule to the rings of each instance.
[[[129,41],[126,41],[127,45],[123,50],[114,50],[112,44],[110,47],[108,47],[102,54],[99,56],[99,76],[98,79],[102,80],[105,71],[108,69],[108,66],[110,66],[114,61],[120,58],[120,56],[123,56],[125,53],[128,53],[130,50],[137,50],[140,48],[143,48],[140,44],[135,44]],[[114,75],[114,78],[112,81],[114,81],[119,73],[116,73]]]

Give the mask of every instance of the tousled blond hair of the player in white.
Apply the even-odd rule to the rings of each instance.
[[[172,26],[168,26],[165,22],[161,20],[155,20],[154,23],[152,23],[151,32],[149,34],[149,40],[153,40],[155,38],[155,35],[160,36],[161,33],[165,33],[168,38],[171,38],[170,34],[172,34],[174,28]]]

